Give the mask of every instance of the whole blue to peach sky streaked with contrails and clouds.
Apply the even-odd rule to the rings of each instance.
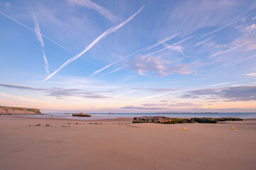
[[[256,1],[0,0],[0,106],[256,112]]]

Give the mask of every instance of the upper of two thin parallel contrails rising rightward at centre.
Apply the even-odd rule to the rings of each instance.
[[[177,35],[179,35],[179,33],[176,33],[176,34],[170,36],[169,38],[165,38],[165,40],[162,40],[162,41],[160,41],[160,42],[157,42],[155,45],[152,45],[152,46],[150,46],[150,47],[148,47],[148,48],[146,48],[146,49],[145,49],[145,48],[141,48],[141,49],[139,49],[139,50],[136,50],[135,52],[131,53],[130,55],[127,55],[126,57],[123,57],[123,58],[121,58],[120,60],[117,60],[116,62],[112,62],[111,64],[108,64],[106,67],[103,67],[102,69],[96,70],[96,71],[93,72],[91,75],[89,75],[89,77],[92,77],[92,76],[94,76],[95,74],[98,74],[99,72],[102,72],[104,69],[107,69],[108,67],[111,67],[111,65],[116,64],[117,62],[121,62],[122,60],[125,60],[127,57],[130,57],[131,55],[134,55],[135,53],[137,53],[137,52],[139,52],[139,51],[141,51],[141,50],[147,51],[147,50],[150,50],[150,49],[153,48],[153,47],[157,47],[158,45],[160,45],[160,44],[162,44],[162,43],[165,43],[167,40],[171,40],[172,38],[176,37]],[[88,77],[86,77],[85,79],[87,79],[87,78],[88,78]]]

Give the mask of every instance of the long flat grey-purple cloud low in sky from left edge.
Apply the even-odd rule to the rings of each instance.
[[[4,86],[7,88],[23,89],[23,90],[44,91],[47,96],[54,96],[55,98],[65,98],[70,96],[76,96],[81,98],[111,98],[109,96],[96,94],[101,91],[83,91],[82,89],[63,89],[60,87],[52,87],[52,88],[44,89],[44,88],[33,88],[30,86],[18,86],[18,85],[12,85],[12,84],[0,84],[0,86]]]

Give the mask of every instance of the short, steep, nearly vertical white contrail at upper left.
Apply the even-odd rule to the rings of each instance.
[[[50,75],[48,60],[47,60],[47,57],[45,56],[45,50],[43,50],[43,48],[45,47],[45,43],[43,42],[43,38],[42,38],[41,30],[40,30],[40,27],[39,27],[39,23],[38,23],[38,20],[35,18],[35,16],[33,16],[33,20],[34,20],[34,23],[35,23],[35,35],[38,38],[38,41],[40,42],[40,45],[42,47],[43,60],[45,62],[45,71],[48,75]]]

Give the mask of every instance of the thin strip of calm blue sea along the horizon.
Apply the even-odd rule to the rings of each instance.
[[[140,116],[166,116],[169,118],[256,118],[256,113],[96,113],[90,114],[91,117],[73,117],[67,113],[45,113],[43,115],[15,115],[26,118],[57,118],[74,120],[100,120],[108,118],[135,118]],[[1,115],[3,116],[3,115]],[[9,117],[12,115],[4,115]]]

